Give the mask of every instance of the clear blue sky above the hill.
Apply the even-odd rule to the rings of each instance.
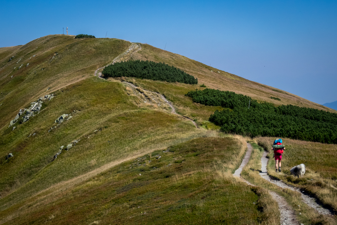
[[[319,104],[337,100],[337,1],[3,1],[0,47],[48,34],[148,43]]]

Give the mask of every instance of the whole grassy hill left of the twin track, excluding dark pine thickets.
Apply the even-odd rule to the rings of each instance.
[[[125,60],[165,63],[198,84],[101,77]],[[48,35],[0,48],[0,224],[279,221],[277,207],[261,210],[268,191],[232,176],[246,139],[208,121],[222,107],[185,96],[201,84],[336,112],[148,44]]]

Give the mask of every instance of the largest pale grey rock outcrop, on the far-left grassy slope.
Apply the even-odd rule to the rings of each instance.
[[[24,123],[24,122],[27,122],[30,117],[33,117],[36,114],[39,114],[43,101],[46,101],[46,100],[50,101],[52,98],[54,98],[54,94],[45,95],[44,97],[40,97],[36,102],[31,102],[31,105],[28,109],[27,108],[20,109],[18,112],[18,115],[12,121],[10,121],[9,127],[11,127],[13,124],[18,122],[19,118],[22,115],[24,116],[22,117],[21,122]]]

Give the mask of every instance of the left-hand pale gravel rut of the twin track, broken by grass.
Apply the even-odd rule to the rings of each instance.
[[[251,183],[249,183],[248,181],[243,179],[240,175],[243,167],[248,163],[251,152],[253,150],[250,143],[247,143],[247,148],[248,149],[247,149],[246,155],[243,158],[240,167],[237,170],[235,170],[235,172],[233,173],[233,176],[240,177],[244,182],[246,182],[249,185],[252,185]],[[264,171],[264,170],[262,170],[262,171]],[[255,185],[252,185],[252,186],[255,186]],[[289,204],[286,202],[286,200],[282,196],[276,194],[273,191],[269,191],[269,194],[278,203],[278,207],[279,207],[280,214],[281,214],[280,224],[282,224],[282,225],[296,225],[297,224],[298,225],[299,222],[296,219],[296,215],[294,213],[294,210],[293,210],[292,207],[289,206]]]

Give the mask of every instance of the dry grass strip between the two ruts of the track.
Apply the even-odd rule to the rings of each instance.
[[[256,140],[252,142],[253,151],[251,154],[251,158],[247,165],[243,168],[241,175],[244,179],[248,180],[254,185],[258,185],[262,188],[267,190],[271,190],[276,192],[277,194],[283,196],[289,205],[293,207],[293,209],[298,214],[298,219],[301,223],[304,224],[326,224],[332,225],[336,224],[336,218],[331,218],[329,216],[320,215],[318,214],[313,208],[308,206],[306,203],[302,201],[301,194],[289,189],[282,189],[275,184],[272,184],[265,179],[263,179],[259,172],[261,171],[261,157],[263,154],[264,149],[257,145]],[[286,142],[285,142],[286,143]],[[287,148],[286,148],[287,151]],[[282,158],[283,161],[283,158]],[[270,162],[274,163],[274,160],[270,160]],[[270,166],[270,164],[268,165]],[[274,164],[275,166],[275,164]],[[282,163],[283,167],[283,163]],[[284,170],[284,168],[282,168]],[[268,168],[269,173],[270,171],[275,171],[274,168]],[[298,206],[299,205],[299,206]],[[301,215],[299,215],[301,213]]]

